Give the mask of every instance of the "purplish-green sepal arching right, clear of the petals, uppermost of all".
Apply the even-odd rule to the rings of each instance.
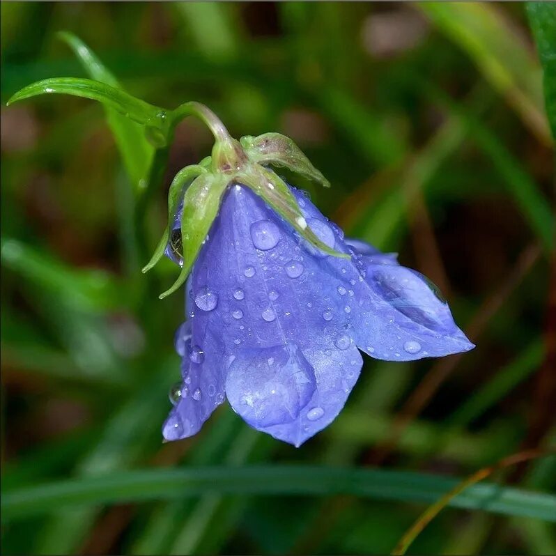
[[[240,143],[252,162],[284,167],[303,178],[330,187],[330,182],[286,135],[264,133],[258,137],[246,136],[240,139]]]

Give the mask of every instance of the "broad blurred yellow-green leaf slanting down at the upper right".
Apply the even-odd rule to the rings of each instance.
[[[481,2],[419,2],[417,6],[468,53],[539,141],[551,144],[539,68],[497,8]]]

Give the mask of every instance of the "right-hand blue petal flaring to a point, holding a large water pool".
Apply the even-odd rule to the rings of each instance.
[[[294,194],[307,222],[330,225],[306,195]],[[361,350],[377,359],[408,361],[474,347],[454,323],[438,288],[419,272],[399,265],[394,254],[381,254],[358,240],[341,242],[340,235],[335,249],[352,254],[350,263],[331,257],[326,263],[331,275],[343,275],[349,284],[344,286],[350,295],[346,311]]]

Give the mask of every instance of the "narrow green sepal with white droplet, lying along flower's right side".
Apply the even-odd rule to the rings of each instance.
[[[298,201],[290,188],[275,172],[259,164],[252,164],[235,175],[235,180],[250,187],[261,196],[302,238],[321,251],[339,258],[350,258],[346,253],[334,251],[325,245],[307,225]]]

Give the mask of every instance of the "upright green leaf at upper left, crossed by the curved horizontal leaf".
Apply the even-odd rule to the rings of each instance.
[[[91,79],[106,83],[123,90],[118,79],[102,64],[95,53],[82,40],[72,33],[63,31],[58,36],[67,43],[81,61]],[[122,116],[114,109],[106,107],[107,121],[116,144],[120,150],[125,171],[134,190],[142,190],[147,183],[150,164],[153,161],[154,147],[146,137],[146,129]]]

